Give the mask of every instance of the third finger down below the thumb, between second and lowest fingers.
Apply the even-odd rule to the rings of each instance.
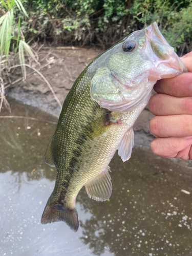
[[[155,116],[150,120],[150,131],[157,137],[191,136],[192,116]]]

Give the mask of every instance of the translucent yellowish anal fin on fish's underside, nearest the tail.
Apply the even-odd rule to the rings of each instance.
[[[110,198],[112,183],[109,171],[110,167],[108,166],[105,172],[98,175],[94,180],[86,183],[86,191],[90,198],[97,201],[106,201]]]

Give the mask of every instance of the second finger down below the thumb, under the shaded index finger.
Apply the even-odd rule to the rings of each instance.
[[[148,103],[154,115],[192,115],[192,97],[177,98],[166,94],[155,94]]]

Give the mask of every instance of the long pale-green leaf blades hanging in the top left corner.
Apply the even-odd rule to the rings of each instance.
[[[0,18],[0,53],[1,64],[6,63],[12,51],[19,56],[20,64],[25,64],[25,53],[36,60],[31,47],[25,42],[25,36],[20,29],[20,17],[28,18],[28,14],[20,0],[2,0],[2,12]],[[22,73],[26,78],[26,67],[22,66]]]

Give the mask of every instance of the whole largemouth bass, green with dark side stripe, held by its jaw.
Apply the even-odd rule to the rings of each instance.
[[[41,223],[79,227],[76,197],[85,186],[90,198],[112,193],[109,163],[116,150],[129,160],[133,125],[157,80],[187,72],[157,23],[126,36],[94,59],[75,80],[47,147],[45,162],[56,167],[55,187]]]

